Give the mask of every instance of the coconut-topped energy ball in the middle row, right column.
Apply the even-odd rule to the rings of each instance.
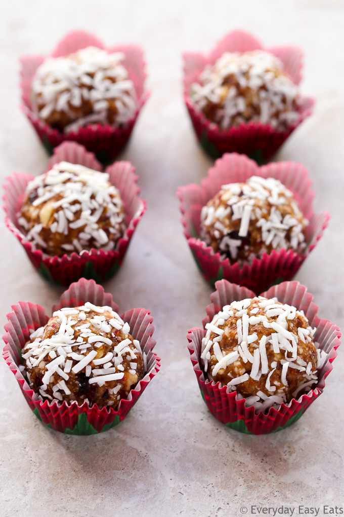
[[[307,224],[281,181],[252,176],[245,183],[222,185],[202,208],[200,234],[222,260],[242,265],[272,250],[301,252]]]

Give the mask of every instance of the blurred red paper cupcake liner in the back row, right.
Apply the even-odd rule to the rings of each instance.
[[[190,86],[192,83],[198,82],[206,65],[214,65],[224,52],[246,52],[258,49],[263,50],[263,47],[254,36],[242,31],[234,31],[224,36],[207,56],[200,53],[183,54],[184,101],[201,146],[213,158],[236,151],[254,158],[259,163],[266,161],[281,147],[294,129],[312,114],[314,99],[302,97],[300,120],[297,124],[290,125],[285,131],[278,131],[269,124],[253,121],[229,129],[220,129],[196,107],[190,97]],[[295,84],[300,83],[303,65],[301,49],[298,47],[273,47],[264,50],[278,57],[290,79]]]

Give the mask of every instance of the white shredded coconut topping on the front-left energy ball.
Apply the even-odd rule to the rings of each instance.
[[[80,319],[80,314],[83,313],[91,318],[92,323],[75,326]],[[109,320],[116,321],[117,327],[120,327],[116,329],[118,337],[113,342],[108,338],[109,332],[102,328]],[[123,333],[124,327],[125,333]],[[52,332],[54,328],[55,331]],[[83,330],[87,332],[80,334]],[[87,302],[82,307],[63,308],[54,312],[45,327],[40,327],[30,334],[30,341],[23,349],[22,359],[31,386],[33,387],[30,374],[32,376],[32,369],[36,367],[39,367],[42,376],[39,394],[43,399],[62,401],[64,395],[73,394],[70,389],[71,376],[80,372],[85,372],[86,382],[89,385],[97,384],[102,387],[107,382],[116,381],[116,386],[110,386],[110,389],[117,389],[116,393],[121,388],[126,389],[124,388],[125,375],[132,375],[132,384],[135,379],[136,384],[140,378],[137,373],[137,361],[141,358],[143,363],[140,344],[137,340],[132,341],[127,337],[118,342],[118,339],[121,336],[127,336],[129,331],[128,323],[124,323],[111,307],[97,307]],[[44,337],[46,332],[48,337]],[[104,336],[105,333],[107,336]],[[76,334],[79,336],[77,337]],[[97,344],[102,348],[97,349]],[[103,344],[111,345],[111,351],[105,352]],[[88,351],[87,347],[93,345],[95,348]],[[129,359],[124,354],[128,354]],[[78,390],[79,382],[75,380],[76,378],[73,382],[76,383],[76,390]],[[112,405],[114,401],[109,400],[109,402],[108,405]]]

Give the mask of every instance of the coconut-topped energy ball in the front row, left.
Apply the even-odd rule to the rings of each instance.
[[[140,343],[129,332],[111,307],[86,302],[54,312],[23,348],[30,387],[43,400],[116,409],[144,372]]]

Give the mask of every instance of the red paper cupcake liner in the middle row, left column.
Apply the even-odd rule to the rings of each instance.
[[[93,153],[88,153],[83,146],[75,142],[63,142],[56,147],[46,170],[50,170],[55,163],[60,161],[78,163],[90,169],[102,171],[102,166],[95,159]],[[146,209],[146,202],[139,197],[138,177],[134,171],[135,167],[128,161],[116,162],[105,170],[109,174],[110,183],[119,189],[124,203],[126,230],[123,237],[118,240],[116,247],[109,251],[92,248],[81,254],[73,252],[71,255],[65,254],[62,257],[48,256],[42,250],[37,249],[32,242],[26,239],[18,223],[17,214],[23,202],[26,186],[34,176],[13,173],[6,178],[5,194],[3,195],[3,208],[6,212],[5,224],[17,237],[30,261],[44,278],[61,285],[69,285],[81,277],[103,282],[116,273],[123,262],[136,226]]]

